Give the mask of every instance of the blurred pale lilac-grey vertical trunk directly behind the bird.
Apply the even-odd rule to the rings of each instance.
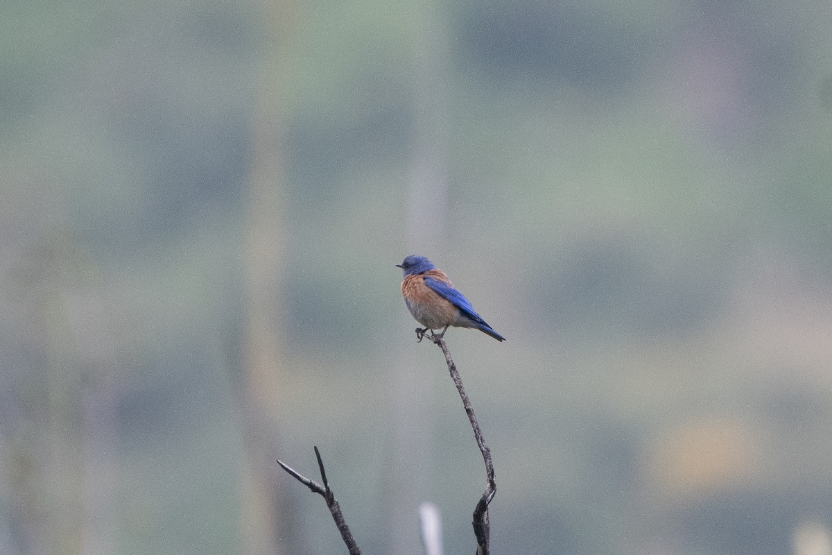
[[[404,255],[441,259],[447,221],[448,93],[444,60],[448,56],[445,17],[435,0],[414,5],[413,109]],[[414,321],[414,329],[415,329]],[[409,333],[407,341],[414,341]],[[422,553],[418,507],[430,493],[436,421],[429,399],[430,376],[402,359],[394,376],[394,451],[388,499],[390,555]]]

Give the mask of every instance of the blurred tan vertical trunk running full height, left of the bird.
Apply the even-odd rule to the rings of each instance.
[[[279,405],[285,384],[278,307],[284,273],[284,199],[282,138],[284,127],[285,48],[294,7],[290,2],[264,2],[264,55],[256,74],[255,111],[245,230],[245,466],[241,477],[240,533],[242,553],[291,553],[285,493],[280,489]],[[282,477],[280,477],[282,478]]]

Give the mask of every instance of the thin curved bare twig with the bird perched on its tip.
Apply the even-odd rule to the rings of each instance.
[[[421,334],[418,333],[420,330],[416,331],[416,335],[419,340],[426,337],[426,330],[421,330]],[[488,555],[488,538],[491,531],[491,527],[488,522],[488,504],[491,503],[491,500],[494,498],[494,494],[497,493],[497,483],[494,481],[494,464],[491,460],[491,449],[489,449],[488,445],[485,444],[485,439],[483,439],[483,430],[479,428],[477,416],[473,414],[471,400],[468,399],[468,394],[465,393],[463,380],[459,377],[456,364],[453,364],[451,354],[448,352],[448,345],[445,344],[445,340],[442,339],[441,334],[432,333],[429,339],[431,339],[433,343],[438,344],[439,349],[442,349],[442,352],[445,355],[445,362],[448,363],[448,372],[451,374],[453,383],[457,386],[459,397],[463,399],[463,407],[465,408],[465,414],[468,414],[468,421],[471,423],[471,428],[473,429],[473,437],[474,439],[477,439],[477,446],[479,447],[480,453],[483,453],[485,476],[488,483],[486,485],[485,492],[483,493],[483,497],[479,499],[477,507],[473,510],[472,524],[474,536],[477,538],[477,554]]]

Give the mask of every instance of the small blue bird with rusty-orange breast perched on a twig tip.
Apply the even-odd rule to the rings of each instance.
[[[418,323],[425,326],[424,330],[416,330],[419,339],[428,330],[433,334],[433,330],[443,328],[438,334],[441,338],[448,331],[448,326],[453,325],[480,330],[498,341],[506,340],[473,310],[470,301],[453,286],[448,275],[424,256],[409,255],[396,267],[404,273],[404,304]]]

